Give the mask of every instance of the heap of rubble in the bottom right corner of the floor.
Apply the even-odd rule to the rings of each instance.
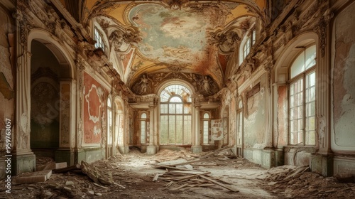
[[[268,170],[265,187],[285,198],[355,198],[355,183],[339,183],[310,172],[307,166],[279,166]]]

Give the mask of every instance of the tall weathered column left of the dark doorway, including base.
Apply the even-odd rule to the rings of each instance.
[[[31,53],[28,52],[28,33],[31,23],[28,21],[26,5],[18,2],[16,18],[16,122],[13,134],[13,151],[11,157],[11,174],[35,171],[35,155],[30,149],[31,136]]]

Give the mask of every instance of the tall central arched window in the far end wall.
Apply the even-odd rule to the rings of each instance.
[[[183,85],[160,93],[160,144],[191,144],[191,94]]]

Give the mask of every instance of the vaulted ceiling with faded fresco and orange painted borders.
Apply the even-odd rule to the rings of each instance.
[[[143,74],[178,72],[207,76],[221,88],[229,55],[246,30],[256,18],[268,23],[268,4],[266,0],[86,0],[80,22],[88,32],[91,21],[99,24],[114,52],[109,60],[130,87]]]

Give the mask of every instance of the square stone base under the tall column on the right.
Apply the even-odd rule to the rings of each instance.
[[[320,173],[324,177],[333,176],[334,156],[312,154],[310,157],[311,171]]]

